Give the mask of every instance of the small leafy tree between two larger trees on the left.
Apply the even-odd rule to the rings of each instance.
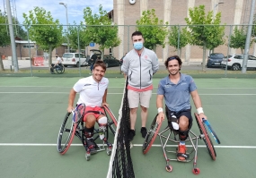
[[[86,29],[83,23],[81,22],[80,25],[76,25],[74,21],[74,25],[69,26],[68,28],[69,33],[66,34],[67,38],[69,38],[69,45],[74,49],[84,48],[89,45],[90,40],[86,40],[84,36],[86,34]],[[78,35],[79,35],[79,46],[78,47]]]

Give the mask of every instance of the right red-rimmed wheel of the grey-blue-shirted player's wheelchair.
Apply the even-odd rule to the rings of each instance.
[[[201,122],[201,120],[199,118],[199,114],[195,113],[195,117],[196,117],[197,123],[199,125],[200,133],[204,135],[203,140],[204,140],[204,142],[207,146],[207,150],[209,152],[209,155],[213,160],[216,160],[216,150],[214,148],[212,140],[209,138],[206,127],[205,127],[204,123]]]

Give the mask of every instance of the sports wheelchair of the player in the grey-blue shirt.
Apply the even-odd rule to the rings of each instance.
[[[175,154],[176,156],[178,156],[177,150],[176,151],[172,151],[170,149],[167,150],[167,147],[168,147],[167,142],[172,141],[172,142],[178,144],[180,142],[180,140],[177,140],[176,136],[177,135],[179,136],[179,131],[173,130],[169,125],[167,127],[165,127],[165,129],[163,131],[160,131],[160,128],[161,128],[161,125],[163,122],[161,122],[159,124],[156,123],[157,115],[158,114],[156,114],[156,116],[154,117],[154,121],[151,124],[150,129],[146,134],[146,138],[143,143],[143,153],[146,154],[149,151],[149,149],[152,147],[152,145],[154,143],[156,136],[158,135],[160,142],[161,142],[161,147],[163,148],[163,157],[166,161],[165,169],[167,172],[172,172],[172,165],[170,165],[169,162],[170,161],[180,161],[180,160],[177,158],[172,159],[172,158],[167,157],[166,153],[172,153],[172,154]],[[185,141],[186,142],[190,141],[192,147],[190,148],[190,150],[188,148],[187,153],[184,154],[184,157],[186,157],[186,159],[184,161],[182,160],[181,162],[190,162],[190,161],[194,160],[192,173],[199,174],[200,170],[197,167],[199,139],[203,140],[205,142],[205,144],[207,146],[208,153],[209,153],[210,157],[212,158],[212,160],[214,160],[214,161],[216,160],[216,150],[214,148],[212,141],[210,140],[210,138],[208,136],[206,126],[204,125],[203,122],[201,122],[201,119],[199,118],[199,114],[195,113],[194,115],[195,115],[196,121],[199,126],[200,134],[196,135],[193,131],[190,130],[189,137]],[[192,123],[190,123],[189,128],[191,128],[191,126],[192,126]],[[173,139],[171,138],[172,133],[173,133]],[[192,155],[193,152],[195,152],[194,157],[190,158],[190,156]]]

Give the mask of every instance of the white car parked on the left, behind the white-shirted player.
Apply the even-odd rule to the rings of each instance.
[[[80,61],[79,61],[80,58]],[[66,67],[67,65],[74,65],[76,67],[87,65],[86,56],[83,53],[65,53],[62,55],[62,64]]]

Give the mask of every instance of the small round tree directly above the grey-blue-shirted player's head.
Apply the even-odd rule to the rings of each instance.
[[[179,51],[178,55],[181,55],[181,48],[186,47],[189,43],[190,34],[186,28],[181,29],[180,26],[172,26],[169,30],[169,45],[175,47]]]

